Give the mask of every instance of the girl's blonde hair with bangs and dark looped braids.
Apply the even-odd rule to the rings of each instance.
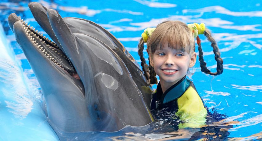
[[[207,63],[204,62],[203,52],[201,47],[200,38],[197,36],[197,44],[199,50],[199,61],[201,71],[210,75],[219,75],[223,72],[223,60],[220,57],[219,49],[216,45],[216,41],[211,36],[211,32],[206,29],[204,35],[207,37],[207,40],[211,42],[213,47],[213,52],[215,54],[215,60],[217,61],[217,72],[213,73],[207,69]],[[154,68],[150,65],[150,57],[158,48],[162,48],[165,43],[168,43],[168,47],[173,49],[180,49],[183,52],[192,54],[195,52],[195,40],[194,35],[189,27],[183,22],[180,21],[165,21],[157,25],[154,32],[148,37],[147,40],[147,53],[149,54],[149,65],[146,64],[143,50],[144,50],[144,40],[140,39],[138,44],[138,54],[141,60],[142,70],[149,81],[150,84],[157,84],[156,73]]]

